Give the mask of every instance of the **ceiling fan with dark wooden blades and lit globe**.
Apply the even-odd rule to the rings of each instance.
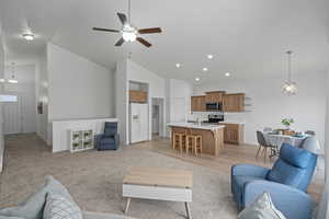
[[[141,34],[155,34],[161,33],[160,27],[152,27],[152,28],[136,28],[132,25],[131,22],[131,0],[128,0],[128,18],[124,13],[116,13],[121,23],[123,24],[121,31],[112,30],[112,28],[102,28],[102,27],[93,27],[93,31],[102,31],[102,32],[113,32],[113,33],[121,33],[122,37],[116,42],[115,46],[122,46],[125,42],[135,42],[138,41],[146,47],[151,47],[151,44],[140,37]]]

